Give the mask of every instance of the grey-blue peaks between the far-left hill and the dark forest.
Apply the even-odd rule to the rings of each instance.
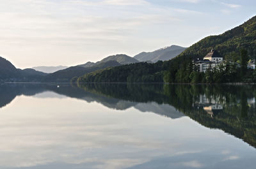
[[[145,54],[150,56],[148,57],[151,59],[150,61],[156,62],[159,60],[171,59],[172,57],[175,57],[175,55],[180,54],[184,49],[185,48],[183,47],[172,45],[171,47],[162,48]],[[147,55],[145,55],[143,58],[146,59]],[[140,55],[137,55],[137,57],[139,59],[142,58]],[[102,70],[108,67],[138,63],[142,60],[138,60],[135,57],[130,57],[129,55],[125,54],[110,55],[98,62],[86,62],[85,64],[79,64],[64,70],[55,71],[54,73],[50,73],[42,78],[42,80],[43,82],[70,82],[71,78],[81,77],[86,73],[91,73],[93,71]]]

